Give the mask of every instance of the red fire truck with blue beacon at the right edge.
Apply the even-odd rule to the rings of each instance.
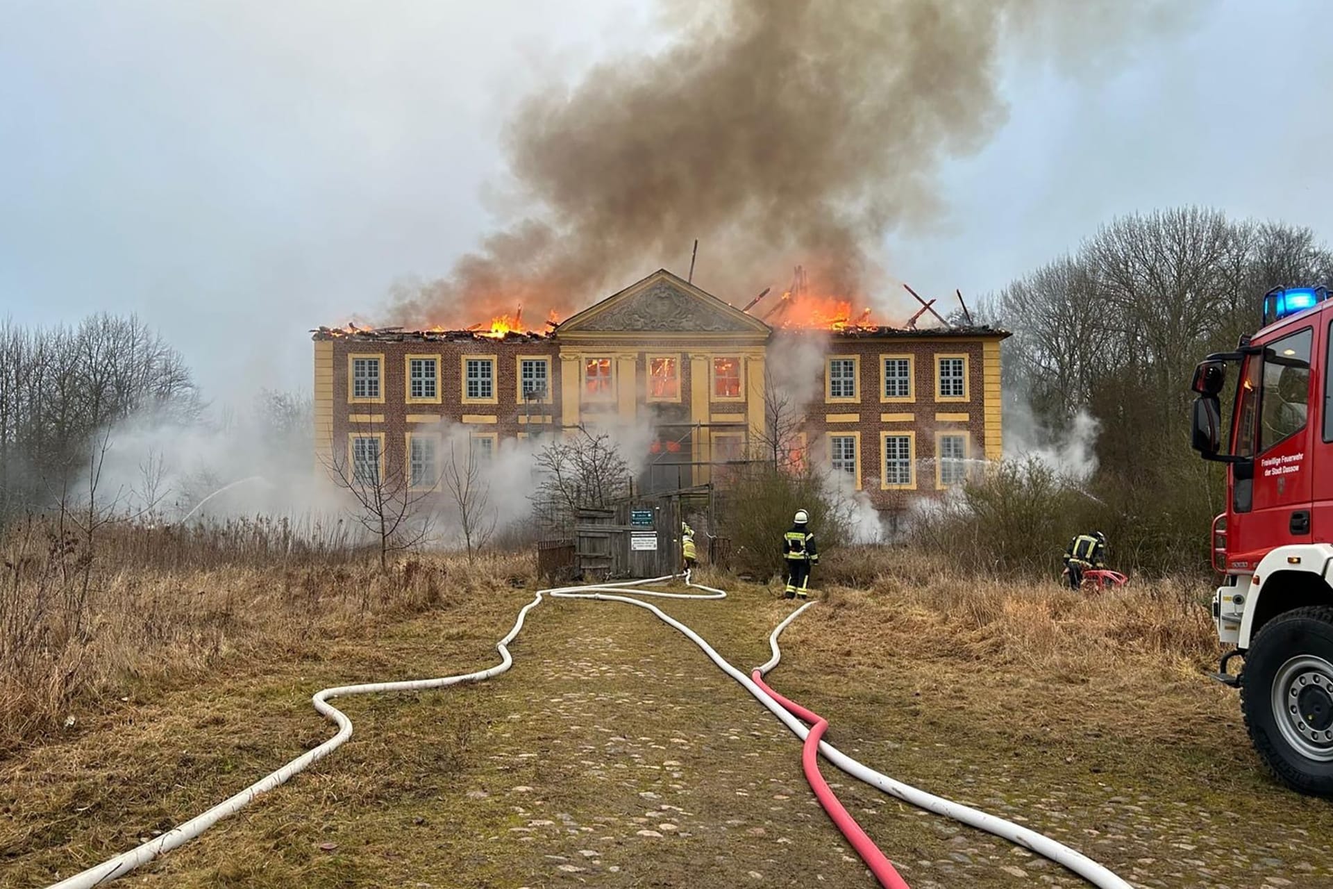
[[[1333,797],[1330,367],[1329,292],[1278,288],[1264,297],[1258,333],[1204,359],[1192,384],[1193,446],[1226,464],[1226,512],[1213,521],[1213,565],[1224,577],[1213,620],[1234,648],[1213,677],[1240,689],[1250,741],[1273,774],[1324,797]],[[1238,674],[1228,672],[1233,658]]]

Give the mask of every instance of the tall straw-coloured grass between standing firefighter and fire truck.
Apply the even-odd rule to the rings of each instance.
[[[1180,706],[1189,698],[1194,713],[1216,705],[1214,713],[1234,718],[1234,694],[1198,681],[1220,650],[1206,581],[1136,578],[1076,593],[1054,580],[966,577],[916,550],[846,550],[838,558],[852,564],[830,573],[860,574],[862,585],[833,585],[828,608],[793,637],[830,668],[846,658],[866,681],[878,681],[885,664],[864,653],[886,646],[896,662],[928,664],[928,685],[952,689],[961,706],[974,704],[996,726],[1096,708],[1128,737],[1178,737],[1188,730]],[[1064,729],[1048,721],[1041,730]]]

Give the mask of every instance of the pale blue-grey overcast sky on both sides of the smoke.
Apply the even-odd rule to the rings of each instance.
[[[208,397],[308,389],[307,331],[448,272],[504,213],[507,113],[652,51],[655,8],[0,0],[0,315],[137,312]],[[1333,3],[1222,0],[1109,76],[1012,60],[1008,123],[945,165],[944,216],[894,232],[888,268],[974,295],[1188,203],[1333,239],[1329,35]]]

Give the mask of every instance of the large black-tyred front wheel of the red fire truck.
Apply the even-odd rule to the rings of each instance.
[[[1333,797],[1333,608],[1296,608],[1265,624],[1240,684],[1245,728],[1273,776]]]

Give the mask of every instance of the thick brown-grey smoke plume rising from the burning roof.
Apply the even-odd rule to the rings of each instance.
[[[1005,53],[1078,72],[1120,61],[1196,3],[673,3],[656,55],[524,101],[507,137],[531,213],[452,273],[392,295],[397,321],[568,313],[659,265],[733,303],[794,263],[822,293],[882,292],[881,245],[934,213],[934,173],[1005,120]],[[1070,52],[1077,48],[1077,52]],[[1072,60],[1077,60],[1073,63]]]

